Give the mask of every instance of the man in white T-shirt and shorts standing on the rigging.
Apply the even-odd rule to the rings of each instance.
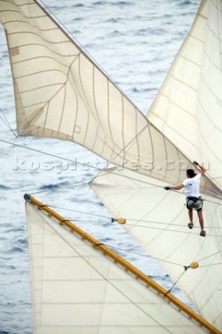
[[[200,168],[200,173],[196,175],[193,169],[187,170],[187,179],[182,182],[179,186],[164,186],[166,190],[180,190],[184,187],[184,195],[187,196],[187,209],[189,210],[189,219],[190,223],[188,224],[189,228],[193,228],[193,209],[196,210],[198,218],[200,221],[200,236],[205,237],[206,232],[204,230],[203,224],[203,200],[200,197],[200,179],[205,173],[205,168],[200,166],[198,162],[193,161],[193,164]]]

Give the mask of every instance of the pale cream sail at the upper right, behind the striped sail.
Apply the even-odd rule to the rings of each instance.
[[[203,0],[148,111],[149,120],[222,186],[222,3]]]

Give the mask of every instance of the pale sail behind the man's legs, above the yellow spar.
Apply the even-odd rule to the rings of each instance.
[[[222,312],[222,202],[204,196],[203,216],[207,237],[200,237],[200,224],[189,230],[183,193],[164,190],[164,182],[153,182],[130,170],[100,172],[90,186],[113,218],[127,219],[121,225],[154,258],[193,302],[202,317],[221,330]],[[188,269],[199,262],[198,269]]]

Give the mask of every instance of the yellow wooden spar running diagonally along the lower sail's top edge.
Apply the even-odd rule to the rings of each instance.
[[[161,287],[158,283],[156,283],[152,278],[145,275],[145,273],[139,271],[136,267],[134,267],[132,264],[127,262],[124,258],[120,257],[117,253],[115,253],[113,250],[111,250],[109,247],[105,246],[104,244],[100,243],[97,239],[90,236],[90,234],[84,232],[84,230],[81,230],[81,228],[78,228],[76,225],[74,225],[72,222],[70,222],[68,219],[64,218],[60,214],[54,212],[53,209],[50,207],[47,207],[47,205],[44,205],[42,202],[38,201],[37,199],[29,196],[28,194],[24,195],[24,198],[27,202],[30,202],[31,205],[38,207],[38,209],[46,212],[48,216],[51,216],[55,218],[58,223],[61,225],[67,226],[67,228],[70,229],[70,232],[77,233],[81,239],[88,241],[88,243],[92,244],[93,247],[100,250],[104,255],[107,255],[111,257],[111,259],[120,264],[126,271],[131,272],[135,278],[143,281],[147,287],[151,287],[154,289],[159,295],[161,295],[164,299],[166,299],[169,303],[172,303],[175,305],[175,307],[179,310],[184,312],[186,315],[188,315],[191,319],[196,321],[200,326],[203,326],[203,328],[206,328],[209,333],[213,334],[222,334],[219,330],[217,330],[214,326],[209,324],[208,321],[203,319],[203,317],[200,317],[196,312],[191,310],[187,305],[182,303],[179,299],[177,299],[173,294],[168,292],[164,287]],[[123,218],[122,218],[123,219]]]

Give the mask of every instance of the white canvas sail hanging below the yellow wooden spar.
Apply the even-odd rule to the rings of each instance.
[[[26,218],[33,334],[206,333],[108,256],[29,203]],[[212,333],[219,333],[214,329]]]

